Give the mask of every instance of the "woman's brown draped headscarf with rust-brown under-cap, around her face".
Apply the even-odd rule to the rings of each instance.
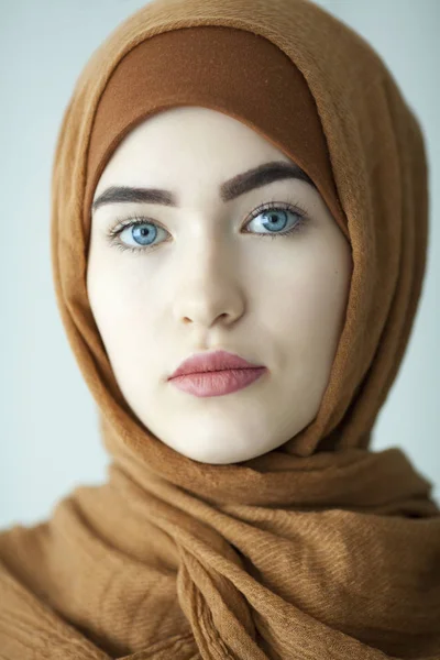
[[[352,250],[316,418],[229,465],[193,461],[141,424],[86,290],[100,173],[136,123],[183,105],[230,114],[283,150]],[[0,534],[2,656],[439,659],[432,484],[398,447],[369,449],[414,324],[427,232],[418,121],[377,54],[324,10],[155,0],[113,31],[65,111],[52,207],[57,304],[113,462],[107,483],[75,488],[50,520]]]

